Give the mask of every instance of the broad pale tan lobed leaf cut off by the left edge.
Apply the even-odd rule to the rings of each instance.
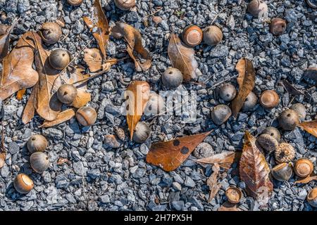
[[[20,89],[34,86],[39,79],[37,71],[32,68],[33,49],[25,41],[29,37],[32,37],[32,32],[23,34],[15,49],[3,60],[0,84],[0,99],[2,101]]]

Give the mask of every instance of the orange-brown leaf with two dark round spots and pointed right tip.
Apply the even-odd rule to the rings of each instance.
[[[208,131],[171,141],[152,143],[149,153],[147,153],[147,162],[161,167],[167,172],[173,171],[182,165],[194,148],[210,133],[211,131]]]

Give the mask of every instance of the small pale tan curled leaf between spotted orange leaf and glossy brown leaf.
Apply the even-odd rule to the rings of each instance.
[[[230,152],[225,151],[223,153],[219,153],[216,155],[211,155],[206,158],[201,158],[198,160],[194,160],[195,162],[206,163],[206,164],[215,164],[218,163],[220,167],[224,169],[230,169],[231,165],[234,162],[238,162],[241,157],[241,152]]]

